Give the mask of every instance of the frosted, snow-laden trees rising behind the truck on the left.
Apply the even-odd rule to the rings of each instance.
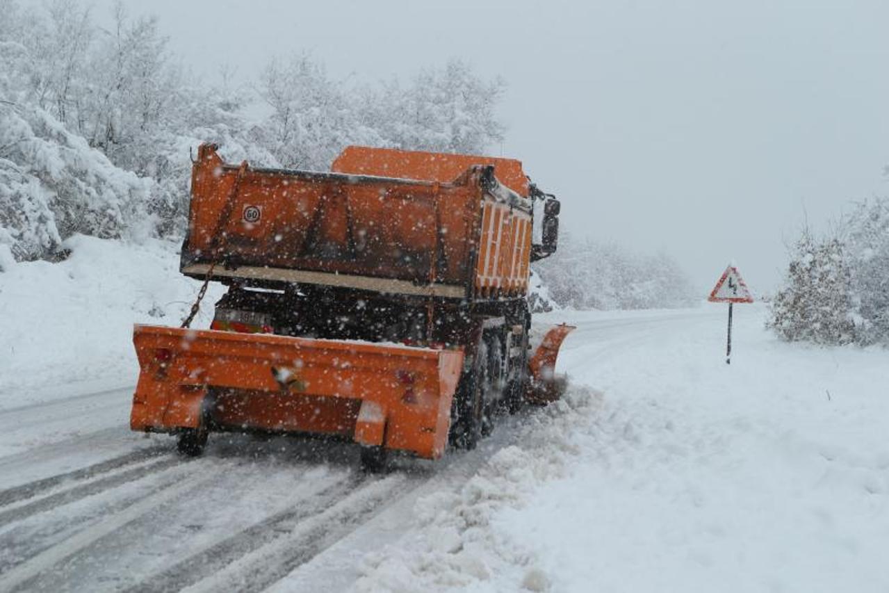
[[[502,139],[502,82],[456,60],[403,87],[347,85],[300,55],[270,62],[253,92],[184,72],[156,18],[121,4],[108,29],[75,0],[0,0],[0,14],[0,245],[17,260],[75,233],[181,235],[201,141],[326,170],[348,144],[481,153]]]

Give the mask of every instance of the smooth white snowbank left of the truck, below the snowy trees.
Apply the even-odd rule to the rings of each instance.
[[[179,325],[200,288],[179,273],[179,244],[74,236],[65,246],[68,260],[0,272],[0,410],[134,385],[133,323]],[[196,327],[218,296],[212,286]]]

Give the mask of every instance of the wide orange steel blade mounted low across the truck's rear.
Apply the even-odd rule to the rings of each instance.
[[[461,350],[135,325],[130,426],[312,433],[445,452]]]

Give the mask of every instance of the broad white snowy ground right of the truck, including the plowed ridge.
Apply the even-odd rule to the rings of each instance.
[[[776,341],[761,306],[550,314],[565,403],[414,526],[356,589],[889,588],[889,358]],[[592,386],[597,391],[592,391]]]

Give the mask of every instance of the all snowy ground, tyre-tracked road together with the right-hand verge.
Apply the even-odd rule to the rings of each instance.
[[[725,308],[543,317],[578,325],[565,402],[378,477],[288,438],[182,460],[131,387],[5,402],[0,589],[889,588],[885,350],[782,344],[756,306],[731,366]]]

